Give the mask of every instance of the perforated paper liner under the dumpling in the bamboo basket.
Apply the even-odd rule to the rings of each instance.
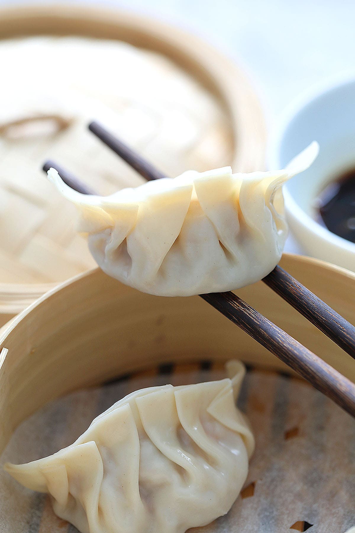
[[[22,423],[1,464],[31,461],[68,446],[95,416],[136,389],[222,377],[223,367],[208,362],[165,365],[72,393]],[[191,532],[344,533],[354,526],[355,421],[300,379],[257,369],[247,373],[239,403],[257,441],[244,497],[226,516]],[[54,515],[46,495],[24,489],[0,471],[0,533],[76,532]]]

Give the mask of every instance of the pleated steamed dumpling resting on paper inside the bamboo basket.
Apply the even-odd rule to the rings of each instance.
[[[49,492],[55,513],[82,533],[184,533],[226,514],[254,449],[232,379],[150,387],[95,418],[68,448],[5,470]]]

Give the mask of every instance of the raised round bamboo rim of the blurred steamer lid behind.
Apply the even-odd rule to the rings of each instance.
[[[27,27],[25,23],[27,20]],[[216,93],[222,105],[228,111],[230,117],[230,128],[233,134],[234,154],[233,164],[247,167],[250,166],[250,157],[253,156],[255,166],[261,169],[265,168],[265,148],[266,148],[266,123],[261,109],[259,96],[254,91],[253,86],[247,76],[247,71],[238,68],[232,58],[219,47],[205,42],[199,35],[195,35],[189,30],[156,19],[146,14],[138,14],[133,11],[113,8],[109,5],[85,5],[85,4],[63,4],[53,3],[42,5],[20,4],[17,6],[0,7],[0,28],[18,27],[15,31],[11,29],[0,30],[0,39],[17,38],[31,35],[39,35],[36,29],[31,29],[31,21],[35,23],[35,28],[40,21],[55,20],[57,27],[63,27],[64,21],[85,20],[87,25],[97,22],[116,26],[118,35],[117,39],[125,42],[134,41],[139,35],[148,36],[147,49],[152,48],[154,44],[162,43],[161,49],[165,46],[168,58],[177,61],[177,57],[186,60],[185,71],[189,71],[187,63],[190,65],[190,71],[196,68],[195,78],[204,82],[209,91]],[[21,30],[21,28],[27,28]],[[127,35],[121,35],[122,30],[133,35],[130,39]],[[9,35],[7,35],[9,33]],[[42,35],[51,34],[50,31],[43,30]],[[65,31],[63,30],[63,34]],[[67,35],[73,35],[75,32]],[[77,34],[79,35],[79,33]],[[89,36],[89,31],[82,31],[82,36]],[[94,36],[94,32],[93,35]],[[106,37],[109,38],[109,37]],[[181,67],[181,66],[180,66]],[[247,94],[246,94],[247,93]],[[248,103],[253,109],[253,119],[250,124],[245,124],[243,114],[245,113],[244,104]],[[247,106],[246,106],[247,107]],[[242,115],[242,117],[241,117]],[[242,157],[238,157],[242,154]],[[23,308],[34,301],[35,298],[42,295],[47,290],[56,286],[60,282],[44,283],[0,283],[0,314],[13,316],[19,313]]]

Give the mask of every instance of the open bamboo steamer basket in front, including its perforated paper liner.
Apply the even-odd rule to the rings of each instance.
[[[355,322],[354,273],[289,254],[284,254],[280,264]],[[265,284],[258,282],[238,290],[238,295],[355,381],[354,361]],[[243,497],[238,498],[227,518],[196,532],[286,533],[291,526],[303,531],[311,523],[312,533],[343,533],[354,525],[354,420],[303,380],[286,375],[288,368],[282,362],[201,298],[143,294],[97,269],[39,298],[3,330],[0,343],[0,453],[24,419],[72,391],[119,376],[128,379],[135,372],[140,374],[130,377],[133,389],[204,381],[210,374],[220,378],[221,362],[240,357],[251,365],[242,408],[254,429],[256,451]],[[202,360],[211,364],[200,367]],[[174,365],[177,377],[164,375],[167,364]],[[163,375],[153,371],[158,365]],[[199,368],[204,368],[202,373],[197,371]],[[73,434],[65,446],[79,435],[79,422],[81,429],[90,422],[89,418],[82,427],[82,421],[75,418],[80,417],[83,405],[92,405],[98,398],[93,411],[96,416],[131,390],[125,383],[120,379],[118,384],[123,389],[115,389],[114,394],[110,389],[113,385],[92,389],[84,399],[80,396],[84,393],[74,392],[78,395],[74,419],[68,418],[68,406],[62,410],[55,407],[54,426],[47,434],[50,453],[56,449],[52,442],[55,435],[65,433],[66,425]],[[104,403],[103,398],[107,400]],[[62,413],[63,421],[58,413]],[[36,442],[39,446],[41,439],[37,437]],[[63,446],[62,441],[55,442]],[[27,442],[21,446],[26,448]],[[16,462],[16,456],[12,459]],[[5,474],[0,476],[0,494],[4,478]],[[27,497],[31,498],[28,505],[35,506],[35,510],[26,523],[32,520],[36,527],[32,524],[26,531],[76,531],[54,516],[49,500],[29,497],[10,481],[9,477],[0,498],[0,530],[24,531],[16,516],[20,516],[21,502]],[[4,509],[14,514],[5,516]]]

